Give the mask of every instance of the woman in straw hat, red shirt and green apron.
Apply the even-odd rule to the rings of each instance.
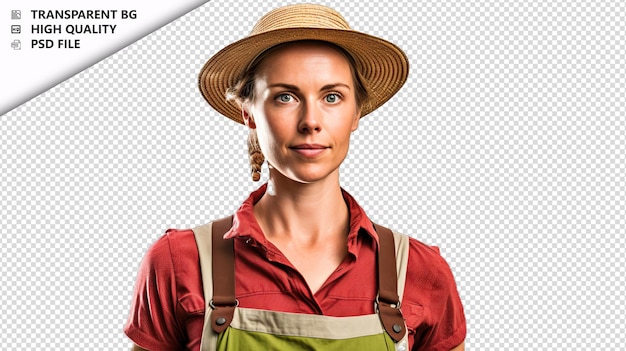
[[[204,97],[249,128],[253,179],[267,159],[270,180],[232,218],[150,248],[134,349],[464,349],[438,251],[375,226],[339,185],[351,133],[407,71],[395,45],[317,5],[268,13],[205,64]]]

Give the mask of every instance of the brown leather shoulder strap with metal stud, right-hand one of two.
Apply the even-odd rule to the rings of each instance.
[[[387,334],[396,342],[406,334],[406,325],[400,298],[398,297],[398,276],[396,273],[396,247],[390,229],[374,224],[378,233],[378,314]]]

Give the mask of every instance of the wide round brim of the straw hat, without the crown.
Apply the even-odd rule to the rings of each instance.
[[[199,86],[202,96],[219,113],[243,124],[240,107],[226,100],[231,88],[248,64],[263,51],[278,44],[319,40],[349,52],[365,78],[370,99],[361,117],[389,100],[406,82],[409,64],[404,52],[391,42],[354,30],[325,28],[283,28],[238,40],[213,55],[202,67]]]

